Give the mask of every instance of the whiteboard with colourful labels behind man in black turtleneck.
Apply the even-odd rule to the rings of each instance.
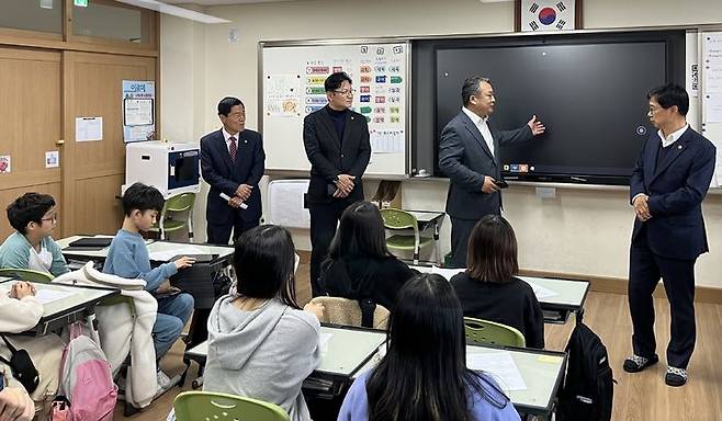
[[[327,104],[326,78],[346,71],[357,90],[352,110],[369,123],[372,152],[365,174],[408,174],[408,41],[261,43],[260,55],[259,127],[267,170],[311,170],[303,120]]]

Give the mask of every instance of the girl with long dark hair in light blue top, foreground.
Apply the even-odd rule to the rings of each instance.
[[[519,420],[492,377],[466,368],[461,304],[442,276],[417,275],[398,292],[387,346],[351,385],[339,421]]]

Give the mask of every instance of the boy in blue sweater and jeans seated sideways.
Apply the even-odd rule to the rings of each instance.
[[[140,278],[146,282],[146,291],[158,300],[158,316],[153,327],[153,341],[156,360],[168,352],[180,338],[183,326],[193,311],[193,297],[170,286],[168,278],[180,269],[193,264],[187,257],[150,269],[150,258],[140,231],[147,231],[156,221],[163,207],[163,197],[153,186],[134,183],[123,195],[123,227],[117,231],[111,247],[103,272],[127,278]],[[158,368],[158,387],[168,389],[170,378]]]

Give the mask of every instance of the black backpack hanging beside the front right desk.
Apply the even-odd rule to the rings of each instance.
[[[580,320],[566,344],[566,378],[560,391],[557,421],[609,421],[613,384],[607,348]]]

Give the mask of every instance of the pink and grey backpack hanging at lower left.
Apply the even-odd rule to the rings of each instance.
[[[117,387],[105,354],[82,334],[79,322],[70,326],[70,341],[63,353],[59,395],[70,401],[72,421],[111,421]]]

